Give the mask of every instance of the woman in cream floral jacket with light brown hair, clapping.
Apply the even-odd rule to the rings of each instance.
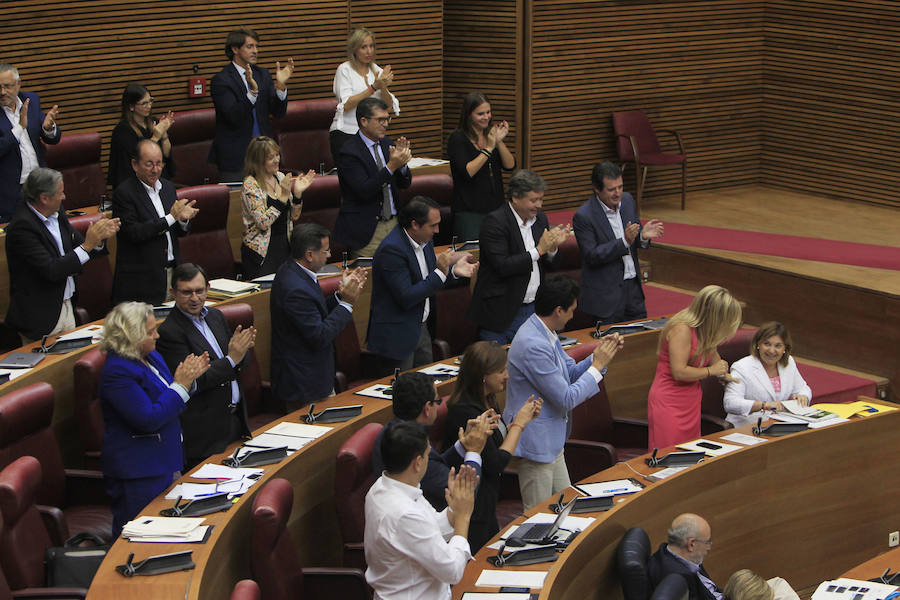
[[[315,171],[292,178],[278,170],[281,148],[270,137],[250,140],[241,189],[241,271],[245,281],[278,270],[291,255],[291,230],[300,218],[301,196]]]

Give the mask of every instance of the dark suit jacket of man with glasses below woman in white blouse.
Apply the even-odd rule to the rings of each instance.
[[[385,162],[391,155],[394,141],[389,137],[381,139],[381,152]],[[341,209],[334,224],[334,239],[351,248],[362,248],[372,239],[375,224],[381,214],[384,194],[381,186],[390,184],[394,197],[394,207],[399,209],[398,189],[408,188],[412,174],[403,167],[391,175],[387,167],[379,169],[375,157],[369,152],[360,134],[344,142],[337,159],[338,180],[341,184]]]

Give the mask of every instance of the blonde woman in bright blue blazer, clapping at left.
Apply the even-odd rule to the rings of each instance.
[[[173,376],[156,352],[156,317],[143,302],[123,302],[104,322],[100,374],[101,462],[112,499],[113,535],[180,475],[184,464],[178,415],[209,356],[190,355]]]

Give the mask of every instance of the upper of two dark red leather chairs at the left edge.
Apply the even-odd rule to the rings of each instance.
[[[65,469],[51,421],[54,396],[39,382],[0,397],[0,468],[22,456],[41,461],[43,479],[36,491],[39,504],[62,509],[65,519],[50,534],[61,546],[72,533],[112,536],[112,513],[99,471]],[[30,584],[33,585],[33,584]]]

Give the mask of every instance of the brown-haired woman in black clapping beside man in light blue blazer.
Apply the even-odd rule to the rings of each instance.
[[[455,440],[460,427],[465,428],[469,419],[478,418],[488,409],[502,414],[496,396],[506,389],[507,379],[506,350],[502,346],[494,342],[475,342],[469,346],[462,357],[456,390],[447,401],[444,439]],[[541,414],[542,403],[540,398],[531,397],[516,413],[512,423],[506,424],[501,419],[481,451],[481,482],[469,523],[469,546],[473,553],[500,531],[497,523],[500,478],[519,443],[522,430]]]

